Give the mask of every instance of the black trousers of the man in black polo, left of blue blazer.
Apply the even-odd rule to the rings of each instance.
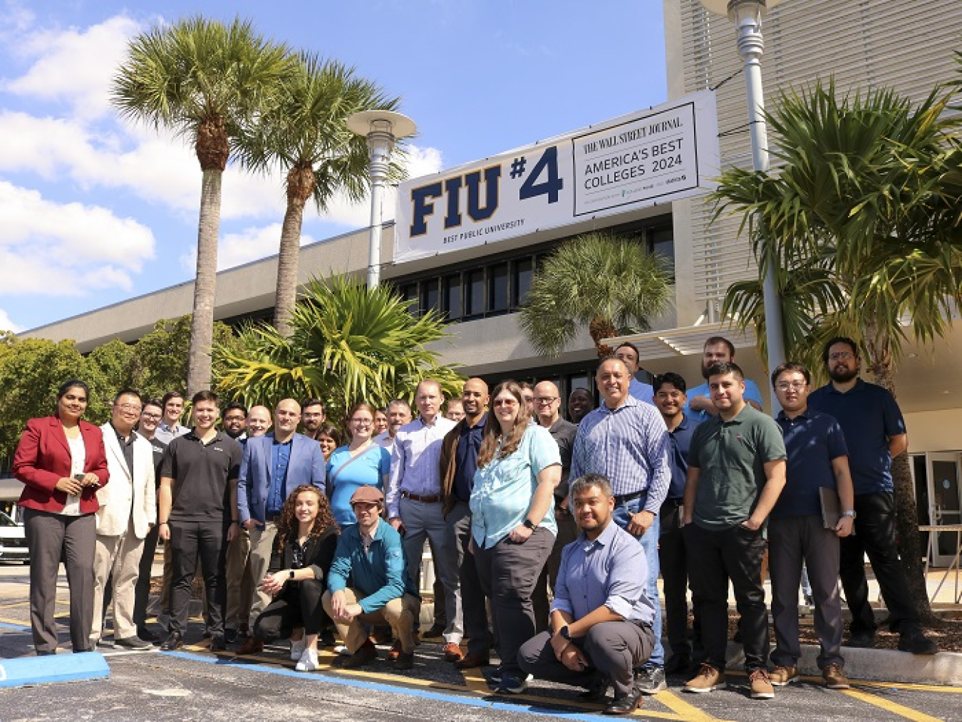
[[[170,583],[170,628],[183,634],[190,609],[190,585],[200,561],[207,594],[207,630],[212,636],[224,633],[227,584],[227,527],[219,521],[181,522],[171,520],[170,551],[173,575]]]

